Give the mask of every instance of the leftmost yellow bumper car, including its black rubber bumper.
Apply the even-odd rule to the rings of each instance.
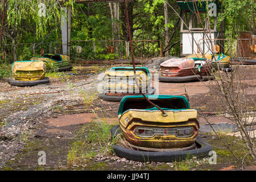
[[[15,61],[11,67],[13,78],[9,84],[15,86],[34,86],[47,84],[46,65],[43,61]]]

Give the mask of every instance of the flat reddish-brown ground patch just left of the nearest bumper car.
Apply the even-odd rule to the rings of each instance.
[[[106,122],[108,124],[118,123],[118,118],[99,118],[95,113],[60,115],[57,118],[47,119],[46,121],[48,122],[48,125],[62,127],[90,123],[92,120],[94,122]]]

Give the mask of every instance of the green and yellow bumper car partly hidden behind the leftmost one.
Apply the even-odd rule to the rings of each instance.
[[[72,69],[70,58],[66,55],[45,53],[43,57],[32,57],[30,60],[44,61],[47,71],[57,69],[57,71],[63,72],[70,71]]]

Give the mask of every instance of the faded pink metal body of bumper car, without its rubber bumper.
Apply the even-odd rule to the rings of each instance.
[[[165,77],[207,76],[210,68],[210,60],[201,58],[172,58],[160,64],[161,75]]]

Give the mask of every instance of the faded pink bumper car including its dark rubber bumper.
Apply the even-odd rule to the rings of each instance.
[[[213,80],[210,75],[212,69],[211,60],[208,55],[191,55],[184,58],[172,58],[160,64],[162,82],[189,82]]]

